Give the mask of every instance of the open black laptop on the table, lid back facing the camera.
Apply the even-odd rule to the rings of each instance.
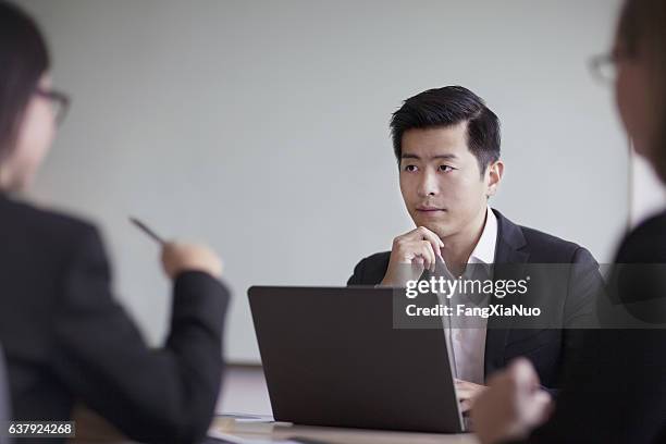
[[[394,329],[392,288],[252,286],[248,296],[275,420],[465,431],[444,328]]]

